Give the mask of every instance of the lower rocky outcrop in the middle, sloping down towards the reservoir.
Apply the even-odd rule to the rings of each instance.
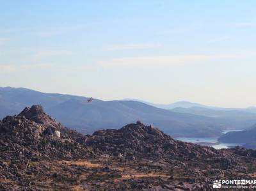
[[[119,158],[196,158],[214,157],[220,152],[188,142],[175,141],[158,128],[140,121],[118,130],[99,130],[86,141],[88,146]]]

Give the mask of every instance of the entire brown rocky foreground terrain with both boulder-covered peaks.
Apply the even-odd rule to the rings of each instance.
[[[252,180],[256,151],[175,141],[138,121],[82,135],[40,105],[0,121],[0,190],[212,190]]]

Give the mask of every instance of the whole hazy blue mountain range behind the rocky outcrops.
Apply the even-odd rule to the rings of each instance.
[[[24,107],[34,104],[42,105],[46,112],[65,126],[83,133],[92,133],[102,128],[118,128],[140,120],[145,124],[159,126],[174,136],[214,137],[221,135],[223,130],[246,128],[256,123],[256,114],[242,111],[239,114],[243,118],[234,120],[237,118],[236,112],[223,114],[222,111],[222,117],[217,118],[213,114],[192,112],[191,108],[187,108],[189,112],[177,112],[177,109],[170,111],[125,100],[105,102],[95,99],[88,103],[83,96],[41,93],[25,88],[0,88],[0,118],[17,114]]]

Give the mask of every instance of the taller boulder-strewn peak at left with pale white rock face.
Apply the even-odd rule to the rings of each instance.
[[[62,126],[40,105],[0,122],[0,157],[5,159],[84,158],[92,154],[85,141],[86,136]]]

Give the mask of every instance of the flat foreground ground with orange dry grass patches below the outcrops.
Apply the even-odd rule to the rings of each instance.
[[[42,160],[26,165],[1,161],[0,166],[7,172],[1,174],[1,190],[212,190],[212,180],[255,178],[254,171],[244,173],[243,168],[237,171],[224,166],[217,169],[214,164],[196,161],[124,161],[101,157]]]

